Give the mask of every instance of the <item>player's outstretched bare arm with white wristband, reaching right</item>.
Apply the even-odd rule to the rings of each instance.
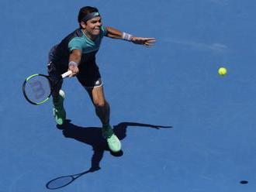
[[[154,46],[156,39],[154,37],[138,37],[133,36],[129,33],[124,33],[119,31],[118,29],[112,28],[110,26],[106,27],[107,33],[106,36],[112,39],[123,39],[130,41],[135,44],[140,44],[144,46]]]

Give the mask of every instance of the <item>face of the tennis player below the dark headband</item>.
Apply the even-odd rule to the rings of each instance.
[[[85,30],[92,36],[98,36],[100,33],[100,28],[102,26],[102,18],[95,17],[88,20],[85,24]]]

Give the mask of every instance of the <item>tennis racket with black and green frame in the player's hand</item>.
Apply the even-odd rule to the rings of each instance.
[[[44,74],[33,74],[26,78],[22,91],[26,101],[30,104],[40,105],[46,102],[52,94],[53,88],[65,77],[72,74],[71,70],[61,74],[59,81],[53,84],[50,77]]]

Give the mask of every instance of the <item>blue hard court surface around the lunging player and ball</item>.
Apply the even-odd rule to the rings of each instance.
[[[0,191],[251,192],[256,188],[256,2],[238,0],[0,2]],[[105,26],[156,37],[147,49],[103,39],[99,64],[123,153],[109,153],[76,78],[65,79],[67,129],[22,82],[47,73],[50,47],[99,8]],[[227,67],[225,77],[217,74]],[[156,126],[158,125],[158,126]],[[166,128],[164,126],[170,126]],[[100,169],[99,169],[100,167]],[[241,184],[247,180],[247,184]]]

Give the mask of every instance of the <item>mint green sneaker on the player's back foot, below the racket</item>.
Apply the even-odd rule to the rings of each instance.
[[[57,122],[57,125],[63,125],[64,121],[66,119],[66,111],[63,106],[65,98],[65,93],[64,91],[60,90],[59,92],[59,101],[57,103],[54,103],[54,118],[55,121]]]

